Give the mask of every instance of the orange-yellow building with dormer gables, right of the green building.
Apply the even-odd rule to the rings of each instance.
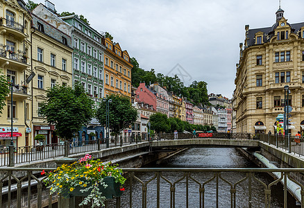
[[[130,57],[127,51],[122,51],[118,43],[110,38],[103,39],[106,50],[104,55],[105,96],[119,93],[131,98],[131,69]]]

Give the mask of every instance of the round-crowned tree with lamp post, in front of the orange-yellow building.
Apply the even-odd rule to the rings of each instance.
[[[96,111],[96,118],[103,126],[106,124],[106,103],[110,99],[112,103],[109,103],[109,127],[117,139],[121,130],[129,128],[136,121],[137,110],[132,106],[130,98],[119,94],[111,94],[106,98],[105,102],[101,102]]]

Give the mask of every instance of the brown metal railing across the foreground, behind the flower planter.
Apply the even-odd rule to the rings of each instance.
[[[2,207],[56,207],[58,195],[49,195],[44,186],[46,176],[42,171],[53,171],[54,168],[0,168],[0,208]],[[304,173],[304,168],[123,168],[127,178],[126,191],[116,200],[108,200],[105,207],[206,207],[212,200],[213,207],[219,207],[222,196],[226,207],[271,207],[271,197],[276,194],[271,188],[283,182],[284,207],[287,202],[287,180],[301,189],[301,207],[304,207],[304,185],[294,178]],[[280,178],[266,183],[257,175],[260,173],[280,173]],[[142,177],[142,174],[146,177]],[[229,180],[228,173],[240,173]],[[174,180],[168,179],[174,175]],[[258,187],[257,187],[258,186]],[[165,191],[165,192],[164,192]],[[253,198],[258,192],[264,198]],[[136,192],[136,193],[135,193]],[[149,197],[147,196],[149,193]],[[162,194],[161,193],[169,193]],[[227,196],[230,200],[227,201]],[[177,202],[178,198],[178,202]],[[195,198],[195,200],[193,200]],[[211,198],[211,199],[210,199]],[[239,198],[242,198],[242,204]],[[179,204],[177,204],[179,203]],[[58,204],[57,204],[58,205]],[[150,205],[150,206],[148,206]],[[58,205],[59,207],[59,205]],[[68,208],[68,207],[67,207]]]

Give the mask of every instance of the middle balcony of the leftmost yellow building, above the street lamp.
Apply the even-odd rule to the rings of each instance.
[[[4,48],[5,46],[3,46]],[[0,65],[8,64],[12,67],[17,67],[24,71],[29,65],[27,64],[27,57],[24,53],[16,53],[13,51],[6,51],[4,49],[0,49]]]

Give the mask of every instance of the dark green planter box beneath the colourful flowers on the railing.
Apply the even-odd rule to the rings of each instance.
[[[101,191],[102,196],[105,196],[107,199],[112,199],[114,197],[119,197],[124,193],[124,191],[120,191],[120,183],[116,183],[114,177],[112,176],[107,176],[103,178],[103,182],[108,185],[108,187],[104,188],[103,185],[99,185],[99,191]],[[90,184],[88,185],[90,187]],[[63,198],[72,198],[74,196],[88,196],[91,192],[89,191],[84,191],[81,192],[81,190],[85,189],[85,187],[75,187],[73,191],[63,191],[62,192],[62,197]]]

